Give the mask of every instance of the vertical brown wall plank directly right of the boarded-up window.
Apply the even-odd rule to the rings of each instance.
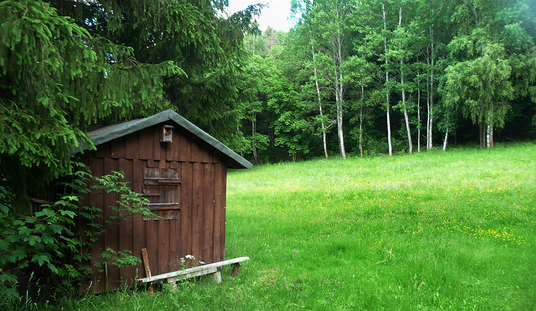
[[[181,248],[179,256],[192,254],[193,164],[181,162]]]

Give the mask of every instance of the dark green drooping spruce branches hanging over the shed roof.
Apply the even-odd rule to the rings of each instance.
[[[244,32],[260,6],[226,2],[0,2],[0,184],[28,192],[70,169],[88,126],[172,108],[217,138],[238,133]]]

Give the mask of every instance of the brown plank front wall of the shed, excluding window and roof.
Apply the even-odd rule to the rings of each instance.
[[[174,126],[173,142],[159,141],[163,124]],[[99,194],[82,202],[84,205],[92,202],[104,211],[104,217],[98,217],[97,221],[105,226],[106,233],[90,251],[94,260],[108,247],[115,251],[129,250],[142,259],[141,249],[145,247],[151,274],[158,275],[180,269],[180,258],[185,255],[193,255],[196,262],[205,263],[224,259],[227,165],[221,161],[225,158],[221,151],[174,122],[145,128],[96,148],[80,155],[94,176],[123,170],[124,181],[142,193],[144,168],[177,169],[181,184],[180,209],[154,211],[157,215],[174,213],[176,219],[145,221],[143,216],[137,216],[111,226],[103,218],[109,219],[112,210],[108,206],[116,204],[117,195]],[[90,227],[80,223],[78,230],[84,232]],[[93,262],[90,264],[95,271],[90,292],[105,291],[106,286],[120,289],[124,282],[131,285],[134,279],[146,276],[141,263],[133,268],[109,268],[106,282],[105,275],[96,271]]]

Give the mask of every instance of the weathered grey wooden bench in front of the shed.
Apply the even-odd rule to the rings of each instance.
[[[174,283],[177,280],[187,279],[195,276],[213,274],[214,280],[217,283],[221,283],[221,273],[218,271],[219,267],[225,266],[227,264],[233,264],[233,270],[231,275],[234,277],[239,271],[240,262],[249,260],[249,257],[239,257],[235,259],[224,260],[220,262],[214,262],[209,264],[204,264],[203,266],[188,268],[184,270],[178,270],[174,272],[168,272],[165,274],[159,274],[155,276],[145,277],[137,279],[137,281],[142,283],[153,282],[155,280],[165,279],[165,283]]]

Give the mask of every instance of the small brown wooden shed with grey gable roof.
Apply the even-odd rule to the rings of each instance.
[[[108,247],[129,250],[142,258],[147,249],[152,275],[180,269],[180,259],[192,255],[213,263],[225,255],[227,169],[251,169],[252,164],[176,112],[103,126],[88,132],[96,150],[78,153],[94,176],[123,170],[133,191],[143,193],[148,208],[161,219],[137,216],[110,225],[93,244],[93,260]],[[116,194],[99,194],[81,202],[94,203],[108,219]],[[90,228],[78,224],[79,232]],[[87,239],[87,237],[83,238]],[[146,277],[143,263],[111,267],[107,275],[94,270],[90,292],[120,289]],[[87,289],[87,287],[86,287]]]

